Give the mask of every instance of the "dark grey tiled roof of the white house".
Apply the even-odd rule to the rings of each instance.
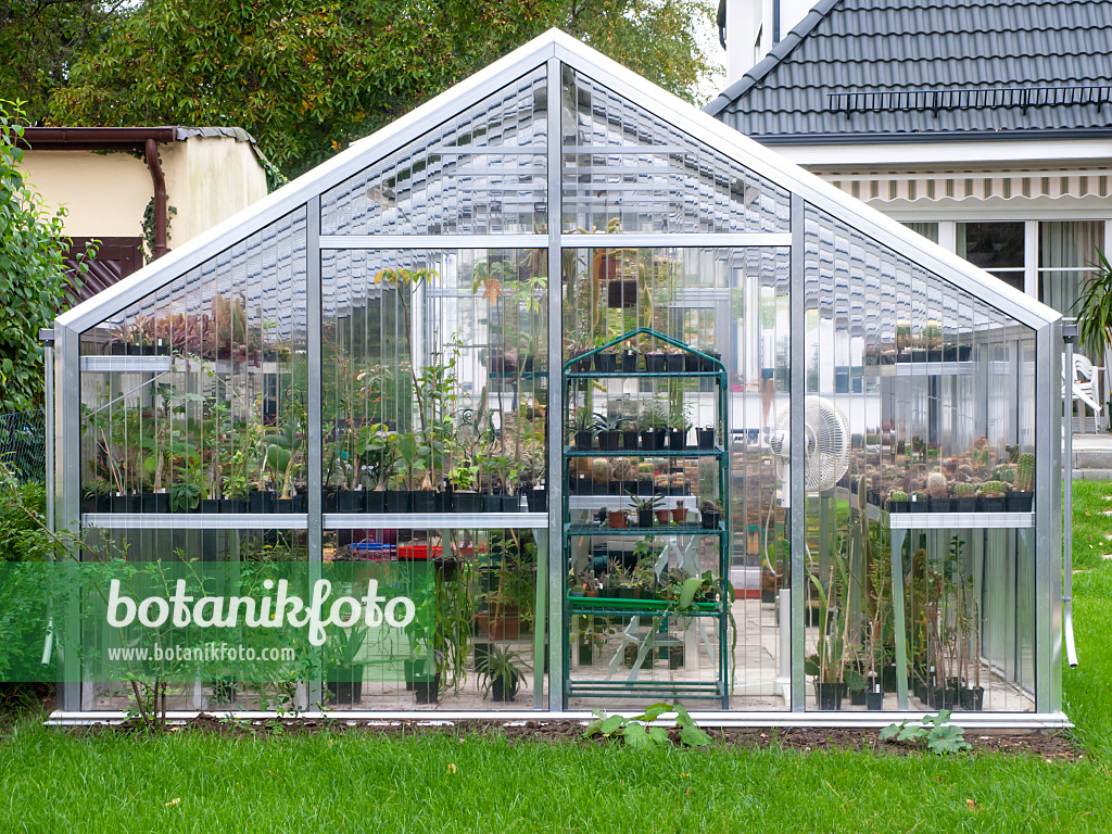
[[[757,139],[1112,128],[1112,2],[820,0],[705,109]]]

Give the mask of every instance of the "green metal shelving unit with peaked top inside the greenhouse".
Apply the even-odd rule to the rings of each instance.
[[[596,354],[608,350],[637,336],[647,336],[658,339],[667,345],[679,348],[685,354],[699,357],[704,367],[716,368],[715,370],[698,371],[646,371],[635,370],[631,373],[589,373],[572,371],[572,368],[580,361],[592,361]],[[564,411],[568,414],[575,396],[576,386],[587,381],[589,385],[596,380],[607,379],[713,379],[716,384],[717,393],[717,426],[716,434],[722,438],[722,443],[711,449],[577,449],[573,446],[564,447],[563,467],[563,530],[564,530],[564,554],[565,574],[570,569],[573,558],[573,539],[580,537],[598,536],[713,536],[718,546],[718,602],[696,603],[684,610],[677,610],[673,603],[663,599],[619,599],[610,597],[586,597],[572,595],[565,589],[564,597],[564,697],[593,696],[593,697],[628,697],[637,695],[661,696],[661,697],[686,697],[721,699],[723,708],[729,707],[729,671],[728,671],[728,628],[729,613],[726,606],[729,605],[727,592],[729,588],[726,582],[728,577],[729,564],[729,478],[728,478],[728,454],[726,440],[727,430],[727,379],[726,367],[719,359],[703,354],[694,348],[677,341],[647,327],[631,330],[607,344],[594,348],[580,356],[569,359],[564,364]],[[632,457],[632,458],[705,458],[714,457],[718,463],[718,498],[722,503],[722,523],[715,528],[704,528],[695,524],[681,524],[654,527],[625,527],[610,528],[594,525],[573,524],[570,496],[569,496],[569,461],[583,457]],[[695,496],[698,498],[698,496]],[[715,617],[718,620],[718,669],[716,678],[712,681],[582,681],[577,682],[572,674],[572,642],[570,624],[572,617],[576,615],[632,617],[644,616],[649,618],[649,628],[656,629],[661,620],[665,624],[668,618],[705,618]],[[655,651],[655,649],[654,649]]]

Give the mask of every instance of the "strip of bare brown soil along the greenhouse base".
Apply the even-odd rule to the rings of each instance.
[[[226,718],[201,713],[195,718],[168,726],[171,733],[199,733],[230,738],[252,738],[267,736],[306,737],[321,733],[361,734],[381,738],[401,739],[418,735],[445,735],[450,737],[505,738],[508,744],[620,744],[606,738],[584,738],[584,725],[573,721],[457,721],[434,723],[429,721],[355,721],[336,718],[269,718],[246,721]],[[878,738],[875,729],[832,728],[733,728],[707,727],[715,746],[738,749],[782,749],[797,753],[814,751],[853,749],[877,755],[923,755],[920,748],[901,742]],[[70,726],[62,732],[79,736],[107,734],[136,734],[150,732],[139,719],[130,719],[116,725]],[[678,731],[672,731],[673,741],[678,741]],[[1051,762],[1074,762],[1085,757],[1085,752],[1064,732],[999,733],[994,731],[967,731],[965,741],[973,745],[972,753],[1039,756]]]

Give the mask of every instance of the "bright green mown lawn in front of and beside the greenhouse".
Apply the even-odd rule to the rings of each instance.
[[[1079,484],[1074,502],[1082,665],[1065,673],[1065,708],[1080,762],[449,736],[78,739],[24,718],[0,742],[0,831],[1110,831],[1112,484]]]

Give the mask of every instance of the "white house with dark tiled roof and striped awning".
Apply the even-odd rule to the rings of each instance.
[[[797,6],[724,0],[759,61],[705,110],[1070,312],[1112,250],[1112,3]]]

